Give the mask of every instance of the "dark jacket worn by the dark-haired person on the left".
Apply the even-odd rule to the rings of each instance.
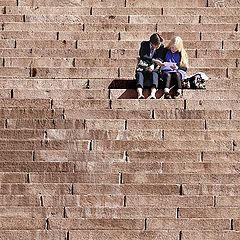
[[[150,57],[150,41],[141,42],[141,47],[139,50],[139,57],[141,60],[147,62],[148,64],[152,63],[152,59],[162,60],[164,46],[161,45],[158,49],[155,50],[152,57]]]

